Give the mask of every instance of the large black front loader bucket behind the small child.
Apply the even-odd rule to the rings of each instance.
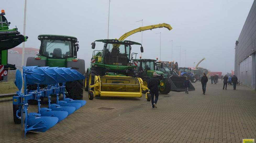
[[[185,87],[183,85],[184,81],[186,80],[185,76],[170,76],[168,80],[171,84],[171,91],[185,91]],[[195,90],[194,86],[191,83],[188,90]]]

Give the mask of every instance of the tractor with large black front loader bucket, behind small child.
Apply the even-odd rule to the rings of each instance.
[[[179,68],[177,62],[166,62],[161,61],[163,63],[163,67],[161,67],[159,64],[157,66],[157,70],[160,70],[163,72],[166,77],[169,79],[169,83],[171,85],[171,91],[185,91],[185,87],[183,85],[184,81],[186,80],[185,76],[179,76],[177,74],[177,69]],[[188,90],[192,91],[195,90],[194,86],[190,83],[190,87]]]

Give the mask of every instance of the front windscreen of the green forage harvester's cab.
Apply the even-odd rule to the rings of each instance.
[[[106,46],[106,45],[105,45]],[[105,48],[104,63],[115,65],[128,65],[130,45],[110,44]]]

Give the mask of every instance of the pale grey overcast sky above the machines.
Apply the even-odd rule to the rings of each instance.
[[[24,0],[2,0],[10,28],[23,33]],[[77,37],[80,45],[78,58],[90,65],[91,43],[107,39],[108,0],[27,0],[25,47],[39,48],[39,34],[69,35]],[[251,9],[253,0],[166,0],[137,1],[111,0],[109,38],[119,38],[124,33],[143,26],[168,23],[172,26],[143,32],[144,59],[171,61],[181,67],[193,67],[203,57],[199,66],[211,71],[231,72],[234,69],[235,41]],[[141,33],[126,40],[141,42]],[[180,49],[181,46],[181,62]],[[22,47],[20,44],[18,47]],[[96,43],[96,50],[102,44]],[[186,50],[186,58],[185,58]],[[140,46],[132,46],[132,52],[139,53]],[[186,60],[185,60],[186,59]],[[186,65],[185,65],[186,64]]]

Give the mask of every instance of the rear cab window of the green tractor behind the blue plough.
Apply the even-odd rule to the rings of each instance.
[[[41,55],[59,59],[70,57],[73,56],[72,47],[71,41],[43,40]]]

